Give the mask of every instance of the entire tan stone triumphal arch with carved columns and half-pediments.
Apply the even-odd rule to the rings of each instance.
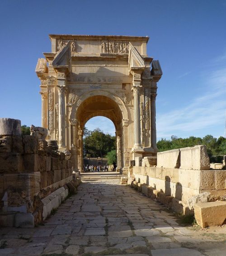
[[[162,71],[148,57],[148,37],[49,35],[51,53],[39,58],[42,127],[83,169],[83,129],[94,116],[113,121],[118,168],[155,156],[155,97]],[[101,128],[101,127],[100,127]]]

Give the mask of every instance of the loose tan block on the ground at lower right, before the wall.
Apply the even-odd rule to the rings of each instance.
[[[226,202],[196,203],[194,212],[195,219],[201,227],[222,225],[226,220]]]

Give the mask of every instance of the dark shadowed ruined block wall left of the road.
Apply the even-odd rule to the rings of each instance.
[[[42,222],[41,200],[73,184],[71,160],[66,156],[70,152],[59,152],[57,144],[38,139],[43,134],[45,130],[21,135],[19,120],[0,119],[0,225],[5,225],[9,212],[32,214],[34,223]]]

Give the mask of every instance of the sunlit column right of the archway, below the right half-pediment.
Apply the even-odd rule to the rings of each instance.
[[[133,136],[134,146],[133,149],[142,149],[141,147],[141,122],[140,122],[140,87],[133,86],[132,92],[134,96],[134,120],[133,120]]]

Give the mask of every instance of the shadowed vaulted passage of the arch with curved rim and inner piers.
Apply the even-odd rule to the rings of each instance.
[[[83,129],[85,123],[94,116],[105,116],[113,122],[117,138],[118,170],[124,167],[123,134],[126,128],[123,128],[122,121],[127,120],[128,114],[123,105],[123,102],[118,99],[117,96],[109,94],[108,92],[90,92],[82,95],[80,100],[72,106],[70,120],[73,120],[76,125],[71,124],[71,145],[75,145],[77,149],[78,169],[83,169]],[[73,136],[74,133],[75,136]]]

